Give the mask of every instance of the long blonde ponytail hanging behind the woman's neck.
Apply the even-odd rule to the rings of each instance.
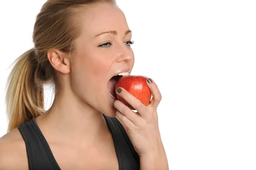
[[[44,113],[44,85],[37,80],[42,73],[35,55],[32,48],[12,63],[6,83],[7,132]]]

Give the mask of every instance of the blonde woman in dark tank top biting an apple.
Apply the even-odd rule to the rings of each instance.
[[[134,66],[131,31],[114,0],[48,0],[33,42],[8,78],[1,170],[168,169],[155,82],[147,81],[147,107],[117,89],[137,113],[113,96],[110,79]],[[47,111],[44,84],[55,86]]]

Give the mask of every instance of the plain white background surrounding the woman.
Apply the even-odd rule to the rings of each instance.
[[[7,68],[33,47],[45,1],[1,1],[0,136]],[[256,170],[255,2],[117,0],[133,31],[132,75],[152,78],[163,96],[158,115],[170,170]]]

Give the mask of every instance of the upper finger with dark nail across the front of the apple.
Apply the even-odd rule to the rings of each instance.
[[[118,90],[121,89],[121,90]],[[130,94],[128,91],[126,91],[124,88],[117,88],[116,89],[117,94],[125,99],[126,102],[128,102],[134,109],[140,113],[142,117],[145,117],[147,112],[147,107],[136,97],[134,97],[132,94]]]

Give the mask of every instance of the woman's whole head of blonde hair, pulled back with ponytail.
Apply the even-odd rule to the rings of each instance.
[[[83,7],[97,3],[116,5],[115,0],[47,0],[44,3],[35,21],[35,47],[15,59],[6,82],[7,132],[45,112],[44,84],[58,88],[58,77],[47,51],[57,48],[73,54],[76,49],[72,44],[81,32],[79,14],[84,11]]]

